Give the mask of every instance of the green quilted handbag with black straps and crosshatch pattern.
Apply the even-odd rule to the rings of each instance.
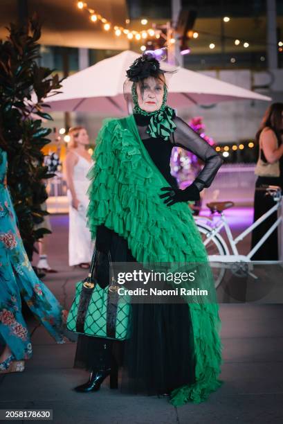
[[[111,283],[100,288],[95,276],[99,252],[95,249],[89,276],[76,284],[75,298],[67,317],[67,328],[75,333],[107,339],[125,340],[129,337],[129,297],[119,296],[119,285],[110,266]]]

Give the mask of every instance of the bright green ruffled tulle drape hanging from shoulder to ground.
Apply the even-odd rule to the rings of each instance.
[[[140,140],[132,115],[104,120],[93,159],[87,211],[93,239],[98,225],[104,224],[127,240],[140,263],[194,262],[207,264],[210,270],[188,204],[168,207],[159,197],[161,187],[168,184]],[[194,331],[195,382],[174,389],[170,402],[175,406],[200,403],[221,385],[217,379],[221,364],[218,305],[188,305]]]

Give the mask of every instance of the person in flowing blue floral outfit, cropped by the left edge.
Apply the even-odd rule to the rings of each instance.
[[[32,355],[21,297],[57,343],[64,343],[64,310],[40,281],[24,249],[6,184],[7,154],[0,148],[0,373],[24,371]]]

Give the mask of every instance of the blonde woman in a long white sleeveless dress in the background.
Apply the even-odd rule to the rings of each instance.
[[[69,198],[69,265],[89,268],[93,252],[91,233],[86,227],[86,209],[89,197],[87,173],[93,161],[87,150],[89,135],[84,127],[73,127],[69,131],[65,169]]]

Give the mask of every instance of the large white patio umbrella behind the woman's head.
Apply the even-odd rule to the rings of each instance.
[[[123,51],[69,76],[62,82],[62,93],[46,100],[46,103],[51,105],[51,111],[95,112],[95,115],[109,116],[127,114],[123,83],[126,69],[139,56],[133,51]],[[271,100],[254,91],[184,68],[179,68],[170,78],[168,104],[175,108],[243,99]]]

